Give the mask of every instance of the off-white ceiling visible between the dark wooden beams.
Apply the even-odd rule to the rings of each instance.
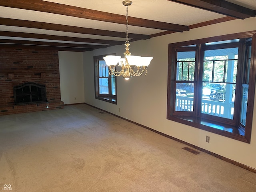
[[[59,4],[66,4],[71,6],[77,6],[81,8],[87,8],[92,10],[98,10],[102,12],[109,12],[114,14],[126,15],[126,6],[122,4],[122,0],[45,0],[48,2],[55,2]],[[227,0],[234,4],[256,10],[256,0]],[[199,8],[194,8],[191,6],[182,5],[176,2],[171,2],[168,0],[133,0],[131,6],[128,7],[128,16],[143,18],[148,20],[155,20],[160,22],[167,22],[172,24],[180,24],[190,26],[193,24],[198,24],[201,22],[206,22],[210,20],[215,20],[218,18],[226,17],[225,15],[210,12],[207,10],[202,10]],[[84,18],[77,18],[72,16],[64,16],[59,14],[52,14],[46,12],[38,12],[32,10],[24,10],[10,7],[0,6],[0,17],[1,18],[12,18],[19,20],[46,22],[53,24],[62,24],[68,26],[78,26],[84,28],[93,28],[101,30],[109,30],[116,32],[126,32],[125,24],[116,24],[110,22],[103,22],[97,20],[90,20]],[[129,17],[128,17],[129,20]],[[80,34],[72,32],[62,32],[54,30],[44,30],[36,28],[26,28],[17,26],[7,26],[0,25],[0,31],[8,32],[25,32],[25,33],[35,33],[35,34],[48,34],[56,36],[69,36],[69,37],[79,37],[79,38],[93,38],[93,39],[104,39],[104,40],[118,40],[125,41],[124,38],[120,37],[110,37],[110,36],[99,36],[91,34]],[[138,26],[128,27],[129,33],[135,34],[146,34],[152,35],[164,30],[144,28]],[[65,42],[59,40],[45,40],[45,39],[32,39],[32,38],[18,38],[18,37],[8,37],[0,36],[0,40],[3,39],[13,39],[13,40],[36,40],[45,42]],[[71,42],[75,44],[86,44],[82,42]],[[95,43],[88,43],[95,44]],[[106,45],[106,44],[102,44]]]

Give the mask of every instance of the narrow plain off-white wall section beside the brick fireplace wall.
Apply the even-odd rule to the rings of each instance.
[[[84,66],[81,52],[59,51],[60,96],[64,104],[84,103]]]

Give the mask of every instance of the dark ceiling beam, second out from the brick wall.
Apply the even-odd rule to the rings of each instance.
[[[57,43],[57,42],[13,40],[13,39],[1,39],[0,43],[5,43],[5,44],[22,44],[22,45],[55,46],[55,47],[88,48],[88,49],[91,49],[91,50],[98,49],[98,48],[106,48],[106,46],[102,46],[102,45],[88,45],[88,44],[74,44],[74,43]]]

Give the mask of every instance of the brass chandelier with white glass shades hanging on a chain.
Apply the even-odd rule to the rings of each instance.
[[[152,60],[152,57],[141,57],[131,55],[129,52],[130,42],[128,41],[128,6],[132,4],[132,1],[123,1],[122,4],[126,6],[126,42],[125,42],[125,52],[124,58],[116,55],[106,55],[104,60],[108,66],[108,74],[114,76],[123,76],[126,80],[132,78],[132,76],[140,76],[145,72],[148,73],[147,68]],[[119,64],[121,66],[121,71],[117,71],[115,66]]]

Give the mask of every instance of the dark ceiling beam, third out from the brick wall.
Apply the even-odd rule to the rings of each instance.
[[[46,35],[46,34],[35,34],[35,33],[11,32],[11,31],[0,31],[0,36],[20,37],[20,38],[34,38],[34,39],[47,39],[47,40],[60,40],[60,41],[74,41],[74,42],[84,42],[84,43],[100,43],[100,44],[111,44],[111,45],[124,44],[124,41],[114,41],[114,40],[104,40],[104,39],[89,39],[89,38]]]

